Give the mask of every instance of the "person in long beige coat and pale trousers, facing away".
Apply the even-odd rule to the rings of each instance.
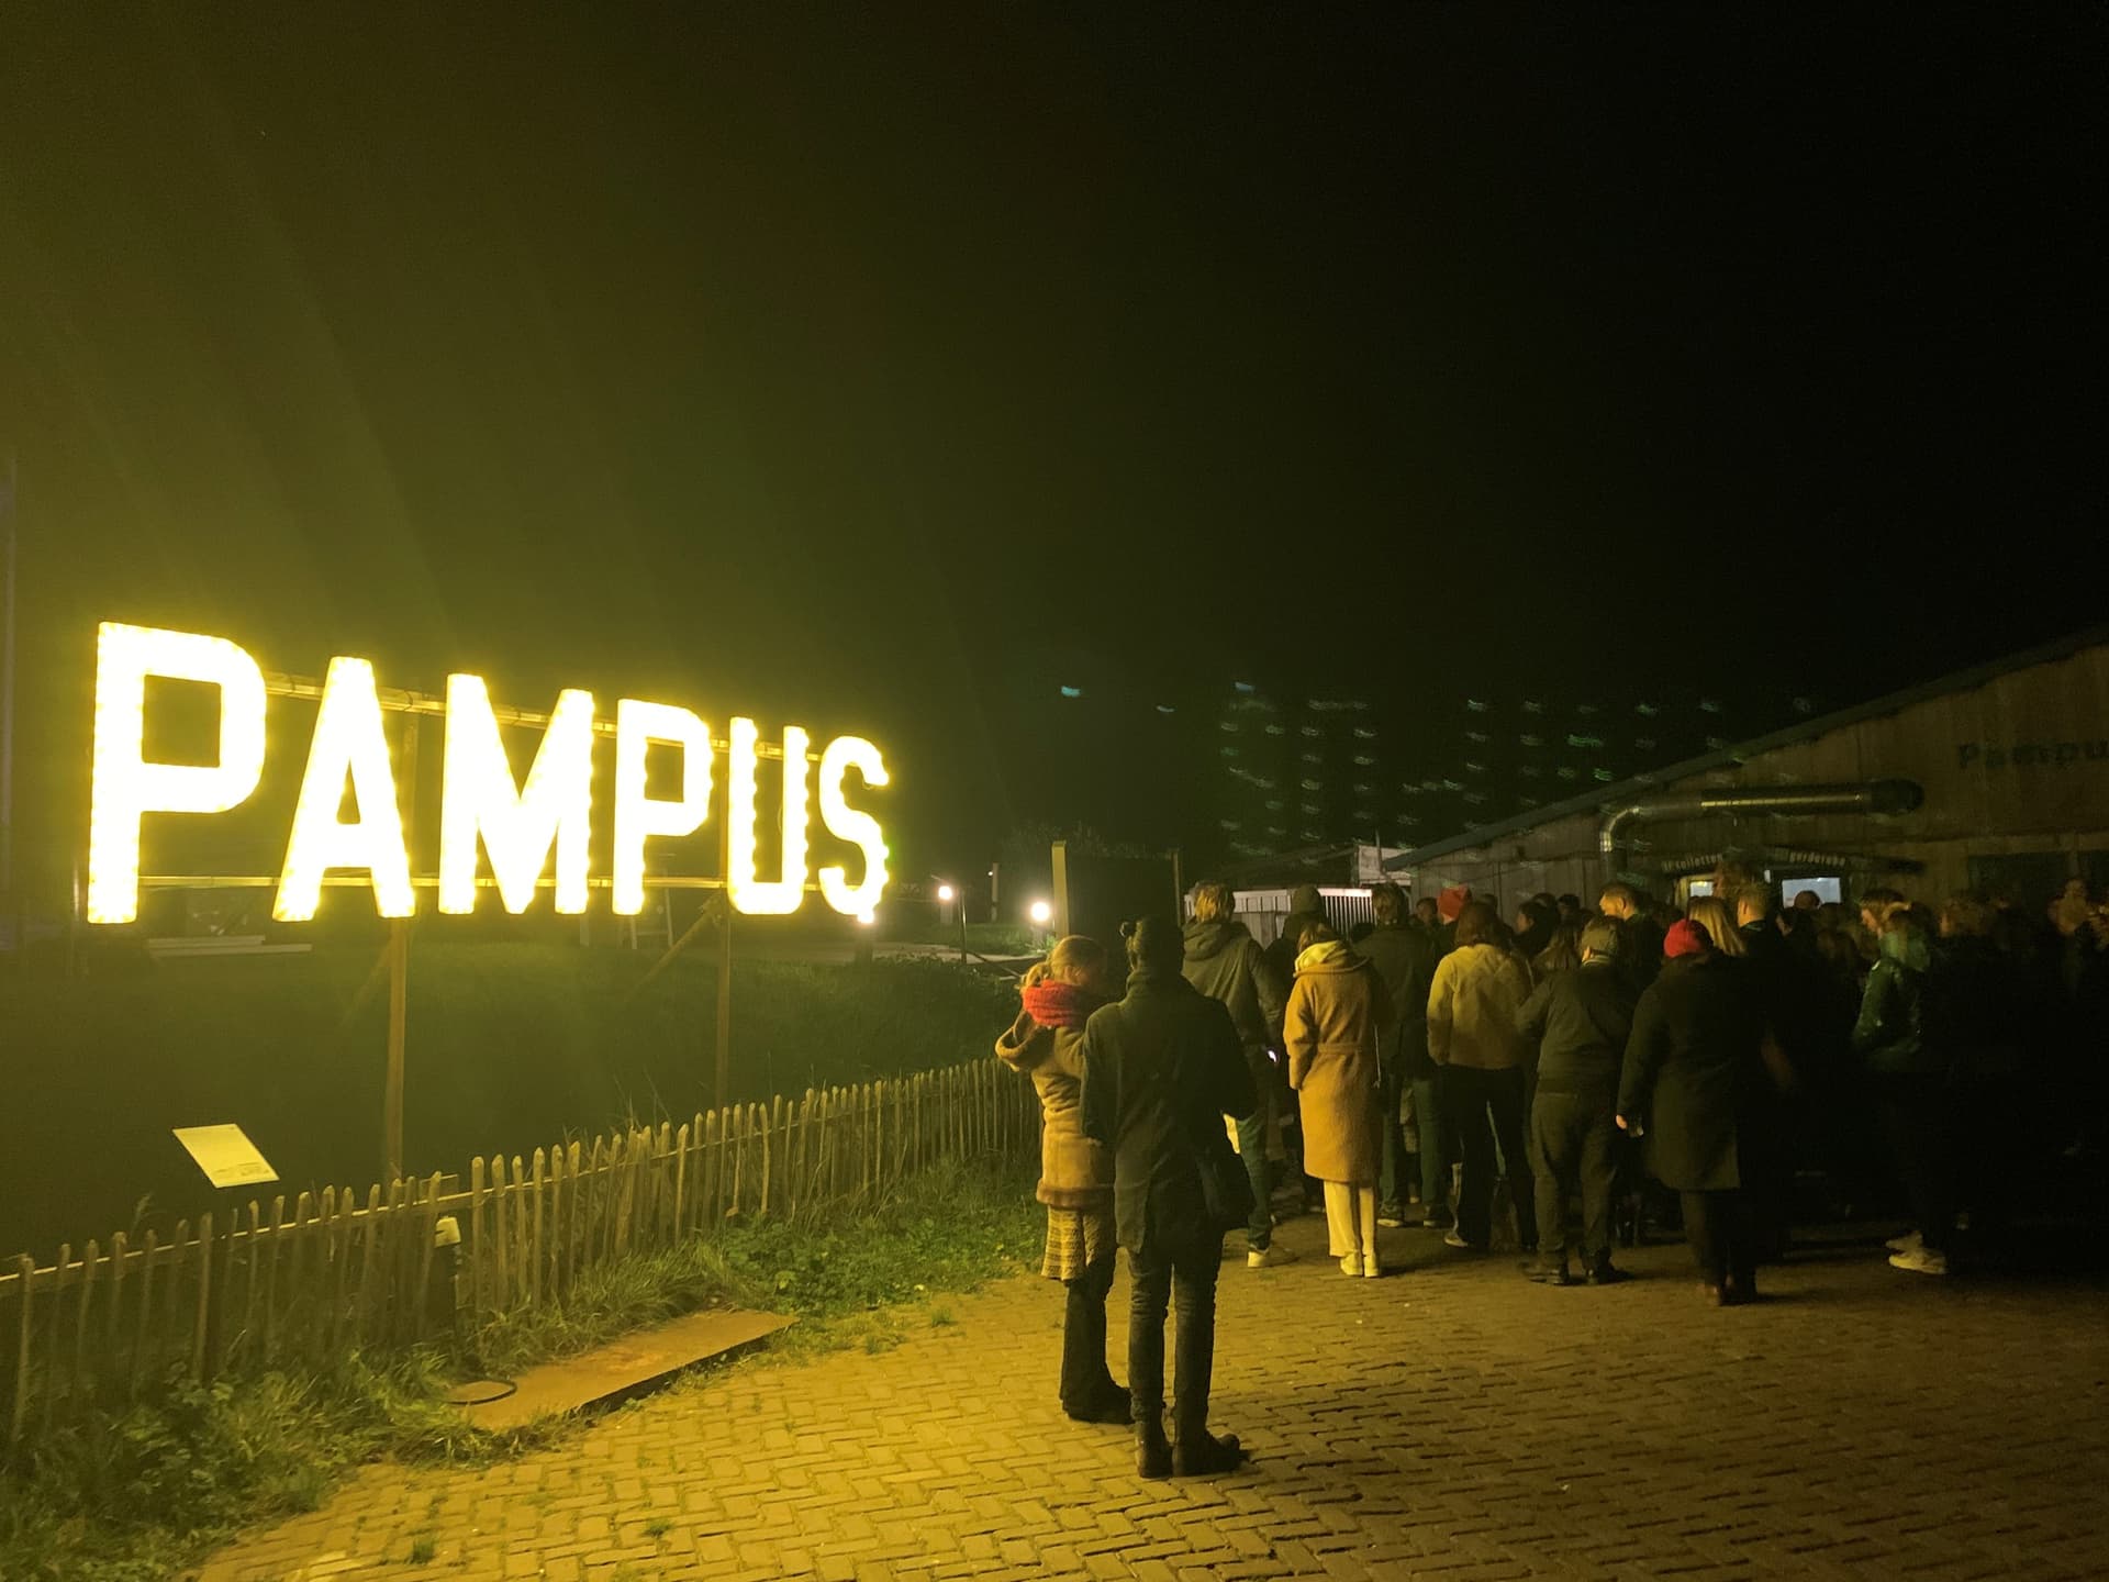
[[[1327,1236],[1341,1274],[1375,1280],[1379,1131],[1377,1038],[1398,1010],[1375,968],[1324,924],[1303,930],[1282,1042],[1303,1103],[1303,1169],[1324,1181]]]

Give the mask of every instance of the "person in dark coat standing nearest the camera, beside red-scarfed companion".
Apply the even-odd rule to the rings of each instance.
[[[1084,1023],[1084,1135],[1114,1150],[1114,1230],[1128,1249],[1128,1390],[1135,1470],[1225,1472],[1236,1436],[1208,1432],[1215,1373],[1215,1276],[1223,1230],[1208,1217],[1200,1171],[1225,1147],[1223,1118],[1257,1107],[1230,1010],[1181,972],[1185,945],[1168,918],[1122,926],[1128,991]],[[1177,1295],[1173,1430],[1164,1439],[1164,1310]]]

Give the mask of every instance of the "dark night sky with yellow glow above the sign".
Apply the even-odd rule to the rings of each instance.
[[[863,730],[907,877],[1187,835],[1232,675],[2096,620],[2103,13],[1833,13],[11,6],[21,840],[99,618]]]

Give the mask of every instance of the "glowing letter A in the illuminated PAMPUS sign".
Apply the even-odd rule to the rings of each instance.
[[[337,818],[346,776],[359,799],[359,818],[350,825]],[[314,918],[323,873],[333,867],[367,871],[382,918],[409,918],[418,909],[373,667],[344,656],[329,660],[329,677],[323,681],[314,740],[308,742],[308,772],[299,780],[293,833],[285,844],[285,869],[270,915],[278,922]]]

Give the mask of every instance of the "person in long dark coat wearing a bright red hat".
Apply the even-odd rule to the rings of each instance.
[[[1742,1135],[1765,1084],[1765,1017],[1750,977],[1689,918],[1670,926],[1662,951],[1632,1015],[1618,1126],[1645,1128],[1656,1179],[1683,1198],[1700,1289],[1731,1306],[1757,1295]]]

